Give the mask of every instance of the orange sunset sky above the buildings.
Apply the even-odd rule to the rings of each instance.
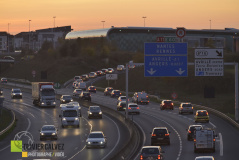
[[[239,0],[0,0],[0,32],[10,34],[71,25],[239,29]]]

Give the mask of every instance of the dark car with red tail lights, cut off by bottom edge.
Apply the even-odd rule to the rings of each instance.
[[[143,146],[140,151],[140,160],[164,159],[160,146]]]

